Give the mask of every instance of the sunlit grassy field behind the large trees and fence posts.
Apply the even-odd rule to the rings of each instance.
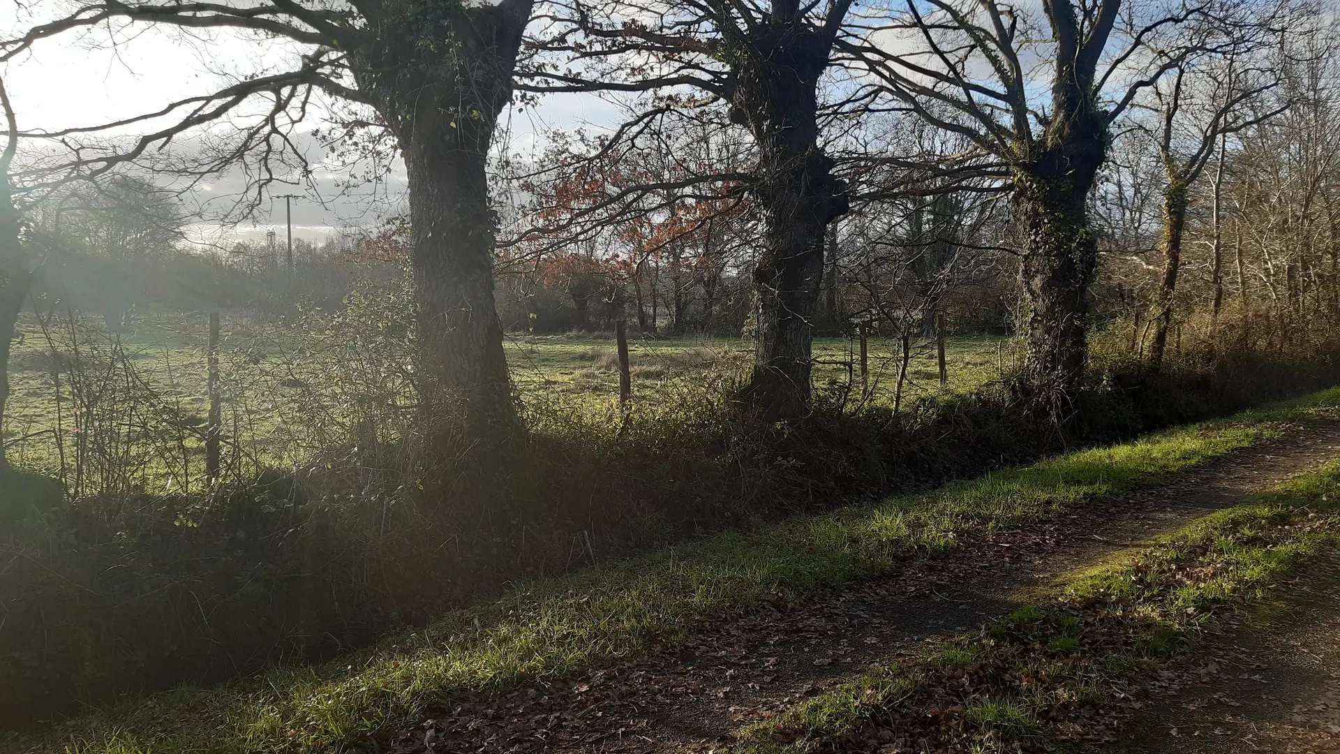
[[[59,472],[79,494],[180,491],[202,479],[208,412],[208,319],[157,315],[111,335],[99,321],[39,327],[27,321],[11,357],[12,396],[3,437],[21,467]],[[998,376],[998,338],[950,338],[949,382],[933,343],[914,345],[902,400],[970,390]],[[509,335],[508,361],[523,404],[608,408],[618,396],[614,339],[587,334]],[[859,402],[855,345],[815,343],[815,385]],[[868,400],[894,404],[900,347],[868,342]],[[712,389],[752,358],[744,339],[634,338],[634,404],[667,389]],[[1008,366],[1009,356],[1004,357]],[[239,475],[293,466],[347,445],[359,427],[394,435],[411,413],[403,338],[366,322],[312,318],[255,325],[222,321],[220,347],[225,459]],[[76,470],[76,471],[71,471]]]

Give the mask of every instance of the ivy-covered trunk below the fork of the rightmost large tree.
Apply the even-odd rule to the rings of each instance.
[[[1025,233],[1020,275],[1028,303],[1024,376],[1037,386],[1073,388],[1088,361],[1088,288],[1097,241],[1085,201],[1096,173],[1020,172],[1013,215]]]

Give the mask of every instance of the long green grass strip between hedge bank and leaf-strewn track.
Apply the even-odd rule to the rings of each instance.
[[[939,490],[718,534],[519,586],[429,629],[248,684],[182,690],[78,718],[15,750],[210,753],[331,750],[413,722],[468,690],[527,683],[675,641],[714,617],[883,573],[965,535],[1020,525],[1332,416],[1340,389],[1227,420],[1072,453]],[[1022,616],[1021,620],[1028,618]],[[1029,618],[1032,620],[1032,618]],[[1026,623],[1026,621],[1025,621]]]

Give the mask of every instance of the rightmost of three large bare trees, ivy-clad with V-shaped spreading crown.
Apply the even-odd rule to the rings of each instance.
[[[1111,125],[1203,48],[1198,28],[1214,11],[1210,3],[907,0],[896,28],[854,50],[878,60],[871,72],[882,94],[1008,166],[1022,239],[1025,376],[1034,384],[1065,390],[1085,369],[1097,264],[1087,204]]]

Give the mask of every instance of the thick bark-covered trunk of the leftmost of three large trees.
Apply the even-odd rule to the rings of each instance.
[[[494,306],[485,164],[531,5],[398,5],[378,19],[375,47],[356,55],[359,89],[405,158],[421,417],[429,448],[444,453],[488,453],[520,433]]]

